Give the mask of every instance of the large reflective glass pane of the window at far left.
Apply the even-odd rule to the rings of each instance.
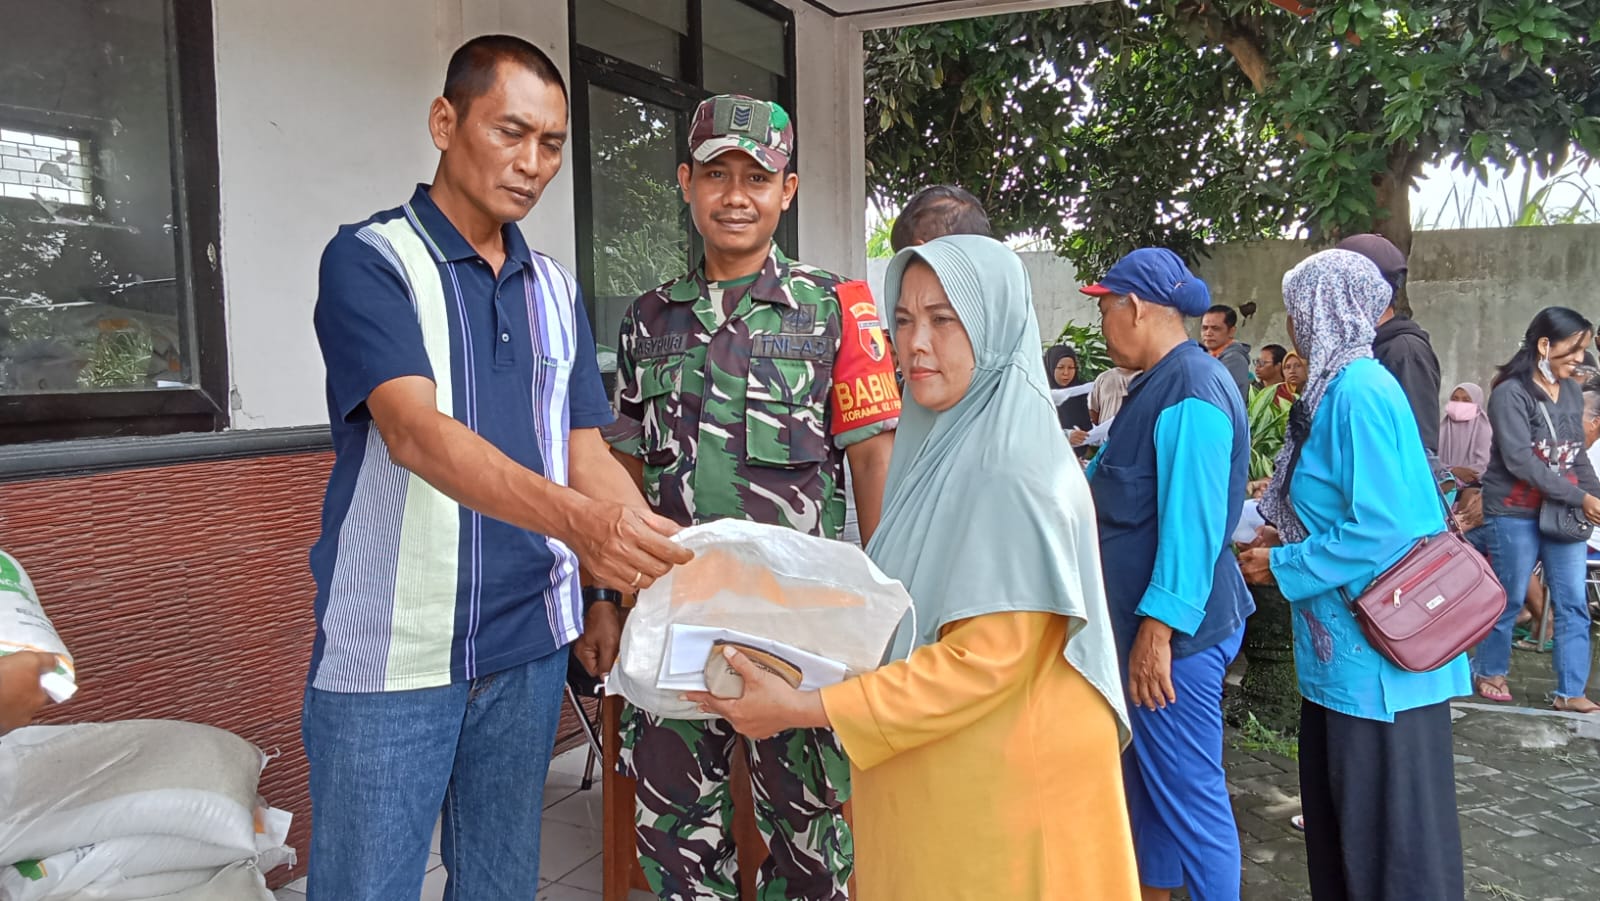
[[[192,386],[166,3],[0,21],[0,394]]]

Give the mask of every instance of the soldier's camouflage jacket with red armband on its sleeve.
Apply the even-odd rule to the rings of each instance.
[[[893,429],[894,363],[864,282],[774,246],[752,283],[704,270],[643,294],[622,317],[613,446],[645,461],[645,496],[693,525],[744,519],[837,538],[845,448]]]

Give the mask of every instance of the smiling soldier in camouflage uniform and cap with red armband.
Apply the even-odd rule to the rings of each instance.
[[[883,503],[899,392],[877,304],[862,282],[787,259],[773,245],[798,179],[789,114],[718,96],[694,114],[678,170],[706,259],[638,298],[618,342],[618,406],[634,427],[645,496],[682,525],[744,519],[837,538],[843,464],[864,536]],[[723,720],[662,720],[629,707],[626,775],[638,779],[638,855],[661,898],[736,898]],[[853,866],[840,805],[850,762],[827,730],[746,741],[768,843],[763,899],[843,899]]]

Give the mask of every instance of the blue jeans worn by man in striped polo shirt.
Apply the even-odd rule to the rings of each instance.
[[[544,778],[565,683],[563,648],[440,688],[307,688],[307,899],[414,901],[440,808],[446,901],[538,895]]]

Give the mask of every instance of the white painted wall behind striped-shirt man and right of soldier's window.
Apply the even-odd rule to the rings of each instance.
[[[861,32],[790,0],[798,58],[800,246],[864,275]],[[381,11],[379,11],[381,10]],[[333,232],[434,174],[427,106],[470,35],[531,40],[568,70],[566,0],[216,0],[222,275],[235,429],[326,422],[312,331]],[[523,221],[576,267],[571,142]]]

